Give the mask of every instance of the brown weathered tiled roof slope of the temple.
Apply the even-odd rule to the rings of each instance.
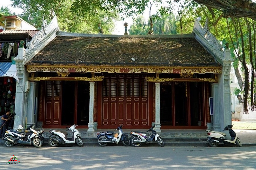
[[[193,37],[57,36],[26,65],[220,66]]]

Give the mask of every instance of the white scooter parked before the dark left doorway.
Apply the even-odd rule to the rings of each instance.
[[[79,135],[80,133],[76,129],[77,126],[78,125],[73,125],[69,129],[67,129],[67,131],[71,130],[73,133],[71,140],[67,139],[67,135],[68,135],[67,132],[50,129],[49,132],[51,133],[51,135],[49,136],[49,139],[48,139],[49,146],[55,147],[58,144],[65,144],[65,143],[77,143],[78,146],[83,146],[83,141]]]

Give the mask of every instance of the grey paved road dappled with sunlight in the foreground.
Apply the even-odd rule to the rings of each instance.
[[[256,147],[0,146],[0,169],[256,170]],[[13,155],[20,163],[7,163]]]

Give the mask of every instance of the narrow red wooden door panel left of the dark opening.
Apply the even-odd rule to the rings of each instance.
[[[45,125],[60,125],[61,81],[45,82]]]

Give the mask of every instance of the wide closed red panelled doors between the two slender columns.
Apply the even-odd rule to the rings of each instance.
[[[146,75],[107,74],[102,89],[102,125],[148,126]]]

